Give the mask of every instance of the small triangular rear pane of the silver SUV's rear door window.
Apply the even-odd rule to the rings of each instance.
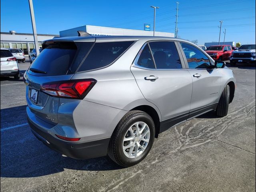
[[[150,68],[150,69],[155,68],[152,54],[150,52],[148,44],[146,44],[146,46],[143,48],[143,50],[140,50],[139,55],[140,55],[140,57],[135,60],[136,65],[142,66],[145,68]]]

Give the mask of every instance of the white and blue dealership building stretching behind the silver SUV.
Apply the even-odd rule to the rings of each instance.
[[[111,27],[101,27],[84,25],[76,28],[71,28],[67,30],[60,31],[59,35],[52,34],[37,34],[38,44],[41,47],[41,42],[47,39],[58,38],[58,37],[68,37],[68,36],[78,36],[77,31],[85,31],[92,36],[153,36],[153,31],[148,28],[148,25],[144,30],[132,30],[132,29],[122,29],[122,28],[111,28]],[[174,33],[166,32],[155,32],[155,36],[162,37],[174,37]],[[35,48],[34,36],[30,33],[16,33],[16,31],[10,32],[0,32],[1,47],[4,48],[19,48],[25,55],[28,54],[32,49]]]

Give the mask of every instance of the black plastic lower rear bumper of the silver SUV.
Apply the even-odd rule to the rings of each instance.
[[[47,132],[44,132],[39,127],[37,127],[36,124],[34,124],[29,117],[27,118],[32,133],[36,136],[36,138],[38,138],[52,150],[76,159],[96,158],[100,156],[105,156],[107,154],[110,138],[82,143],[65,142],[58,138],[54,138]]]

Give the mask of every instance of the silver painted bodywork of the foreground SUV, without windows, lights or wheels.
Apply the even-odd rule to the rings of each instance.
[[[93,42],[95,37],[67,37],[54,40]],[[175,119],[184,114],[186,121],[190,111],[216,104],[226,84],[230,81],[235,82],[232,70],[227,67],[212,70],[188,69],[186,60],[182,57],[182,50],[179,50],[177,43],[180,41],[192,44],[186,40],[141,36],[96,37],[96,42],[126,40],[134,40],[134,44],[104,68],[64,76],[33,76],[26,73],[29,120],[37,128],[58,140],[60,139],[56,134],[81,138],[77,143],[100,140],[110,138],[122,117],[138,106],[154,108],[160,122]],[[152,40],[176,42],[183,68],[148,70],[134,65],[134,59],[142,46]],[[210,56],[208,57],[214,62]],[[200,73],[202,76],[195,78],[193,77],[195,73]],[[150,75],[157,76],[158,79],[154,82],[144,79]],[[40,85],[45,82],[85,78],[94,78],[97,83],[83,100],[54,98],[40,92]],[[30,100],[31,88],[39,92],[38,99],[41,102],[38,104]],[[177,121],[175,124],[180,122],[184,120]]]

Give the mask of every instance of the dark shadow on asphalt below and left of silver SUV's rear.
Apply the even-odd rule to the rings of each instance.
[[[6,128],[10,129],[6,130]],[[1,177],[38,177],[62,172],[64,169],[84,171],[122,169],[107,156],[76,160],[63,157],[51,150],[30,131],[30,127],[26,124],[25,105],[1,109],[0,142]]]

